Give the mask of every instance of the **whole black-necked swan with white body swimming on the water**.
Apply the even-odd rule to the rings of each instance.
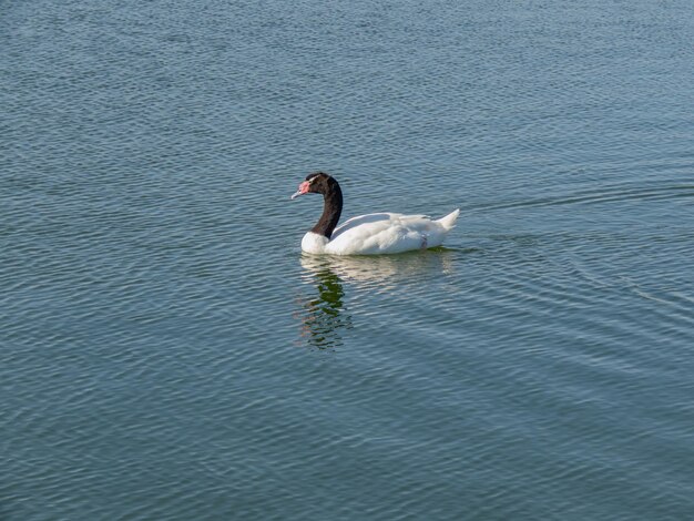
[[[456,224],[460,210],[433,221],[426,215],[378,213],[359,215],[337,227],[343,212],[343,191],[324,173],[308,174],[292,196],[323,194],[323,215],[304,235],[302,249],[312,254],[378,255],[440,246]]]

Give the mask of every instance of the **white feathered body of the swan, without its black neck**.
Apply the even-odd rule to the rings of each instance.
[[[360,215],[335,228],[330,239],[308,232],[302,249],[318,255],[380,255],[432,248],[443,243],[459,213],[456,210],[438,221],[426,215]]]

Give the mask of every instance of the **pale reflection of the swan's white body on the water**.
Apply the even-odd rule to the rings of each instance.
[[[302,255],[307,274],[329,269],[345,282],[356,286],[390,287],[398,280],[453,270],[455,251],[446,248],[378,256],[312,256]]]

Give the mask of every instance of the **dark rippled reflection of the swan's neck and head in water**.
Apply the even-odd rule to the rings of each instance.
[[[302,302],[302,338],[319,349],[337,347],[341,345],[339,329],[351,327],[351,318],[343,309],[343,284],[327,266],[313,270],[310,277],[318,296]]]

